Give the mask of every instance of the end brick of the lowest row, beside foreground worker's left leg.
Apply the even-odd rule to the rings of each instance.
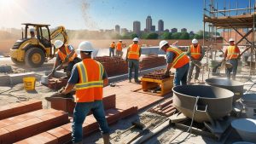
[[[67,143],[67,142],[71,141],[71,139],[72,139],[71,131],[63,129],[61,127],[55,128],[53,130],[48,130],[47,132],[50,135],[54,135],[55,137],[57,137],[59,144]]]

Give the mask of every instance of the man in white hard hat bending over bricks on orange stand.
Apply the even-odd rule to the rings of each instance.
[[[166,40],[159,43],[160,49],[166,52],[167,66],[165,75],[169,76],[171,68],[176,68],[174,85],[186,85],[189,72],[189,58],[181,49],[175,45],[170,46]]]

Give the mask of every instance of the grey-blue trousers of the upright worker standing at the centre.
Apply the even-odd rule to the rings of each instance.
[[[132,70],[134,68],[134,79],[138,81],[138,70],[139,70],[139,60],[128,60],[128,78],[131,79]]]

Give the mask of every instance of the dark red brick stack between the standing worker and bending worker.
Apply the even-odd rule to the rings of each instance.
[[[142,70],[164,65],[166,65],[165,57],[158,55],[150,55],[148,57],[143,58],[143,60],[140,62],[140,68]]]

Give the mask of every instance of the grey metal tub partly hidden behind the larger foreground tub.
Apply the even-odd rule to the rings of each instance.
[[[219,88],[229,89],[235,94],[233,101],[240,99],[243,94],[243,84],[241,82],[230,79],[208,78],[206,83]]]

